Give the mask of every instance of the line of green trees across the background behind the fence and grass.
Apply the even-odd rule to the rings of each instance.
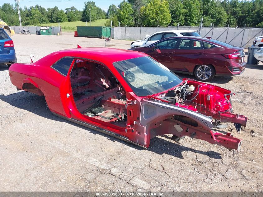
[[[22,25],[49,22],[95,21],[108,19],[106,26],[203,26],[263,27],[263,0],[127,0],[109,6],[107,12],[95,2],[84,3],[82,11],[76,7],[59,10],[40,5],[20,8]],[[17,5],[4,3],[0,19],[8,25],[19,25]]]

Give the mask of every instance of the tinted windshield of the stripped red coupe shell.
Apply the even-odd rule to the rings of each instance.
[[[113,65],[137,96],[154,95],[182,82],[180,77],[150,56],[114,62]]]

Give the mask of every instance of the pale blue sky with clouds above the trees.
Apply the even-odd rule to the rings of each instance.
[[[92,0],[90,0],[92,1]],[[93,0],[96,3],[96,6],[100,7],[102,10],[105,10],[107,12],[110,4],[115,4],[118,6],[122,0]],[[10,3],[15,4],[15,0],[1,0],[0,6],[2,6],[3,3]],[[20,0],[19,6],[24,7],[26,6],[29,8],[30,6],[35,6],[36,4],[45,7],[46,9],[48,7],[59,7],[59,9],[65,9],[67,7],[75,6],[78,10],[82,10],[84,7],[83,0]]]

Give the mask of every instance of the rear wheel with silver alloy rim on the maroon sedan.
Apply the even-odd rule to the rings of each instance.
[[[196,79],[201,82],[208,82],[215,76],[215,69],[212,65],[197,65],[194,72]]]

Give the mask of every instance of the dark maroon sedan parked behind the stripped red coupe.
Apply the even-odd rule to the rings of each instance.
[[[201,37],[170,37],[129,50],[151,55],[173,72],[194,74],[203,82],[214,76],[239,75],[246,66],[243,48]]]

